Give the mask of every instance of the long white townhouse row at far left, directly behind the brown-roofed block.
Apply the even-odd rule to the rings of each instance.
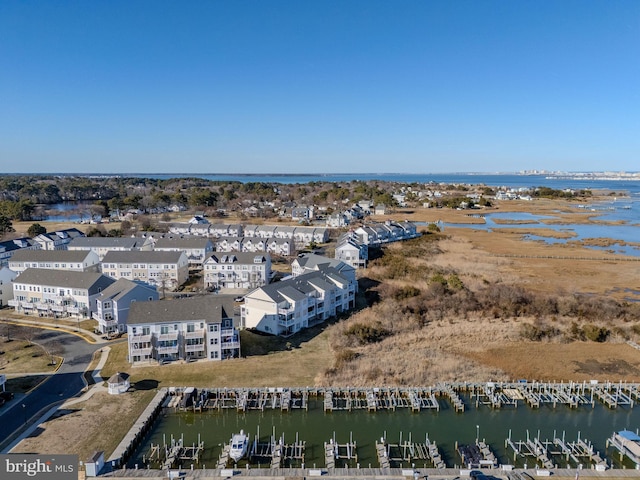
[[[19,250],[9,259],[9,268],[16,273],[27,268],[99,272],[100,260],[91,250]]]

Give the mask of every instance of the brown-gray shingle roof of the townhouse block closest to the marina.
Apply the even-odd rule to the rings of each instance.
[[[233,318],[234,302],[230,295],[201,297],[131,304],[127,324],[206,321],[221,322]]]

